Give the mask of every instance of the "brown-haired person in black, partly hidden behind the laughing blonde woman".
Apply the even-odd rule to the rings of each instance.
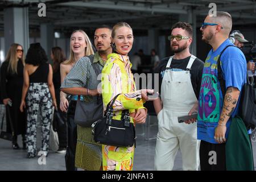
[[[53,85],[55,88],[55,96],[57,102],[57,110],[55,112],[59,113],[61,120],[64,125],[57,125],[57,134],[59,138],[59,149],[57,153],[65,153],[67,148],[67,121],[66,114],[60,110],[60,64],[65,60],[63,50],[60,47],[53,47],[51,51],[51,59],[53,61]],[[53,119],[57,119],[56,115],[53,115]],[[56,121],[57,122],[57,121]]]

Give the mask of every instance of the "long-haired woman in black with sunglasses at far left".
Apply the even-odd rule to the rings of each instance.
[[[19,44],[12,44],[6,60],[1,66],[1,101],[8,106],[10,114],[6,113],[7,119],[7,132],[11,133],[10,121],[13,123],[13,149],[19,149],[17,143],[17,135],[22,134],[23,149],[26,149],[26,114],[20,112],[19,105],[22,97],[23,86],[23,68],[24,68],[24,55],[23,48]],[[11,118],[8,117],[11,116]]]

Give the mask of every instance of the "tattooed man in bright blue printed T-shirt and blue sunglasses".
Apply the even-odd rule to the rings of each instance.
[[[246,82],[245,56],[229,40],[232,17],[223,11],[217,11],[216,15],[208,15],[200,28],[202,40],[212,46],[204,64],[197,116],[202,171],[226,170],[225,142],[231,118],[238,113],[240,92]],[[220,55],[225,94],[222,94],[218,79]]]

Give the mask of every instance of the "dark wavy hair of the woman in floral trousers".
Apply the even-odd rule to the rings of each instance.
[[[46,51],[44,51],[40,43],[30,44],[30,48],[27,51],[25,63],[38,66],[43,63],[47,63],[47,61],[48,59],[46,56]]]

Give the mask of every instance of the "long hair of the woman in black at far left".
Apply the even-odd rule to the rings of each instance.
[[[8,51],[6,59],[5,59],[5,61],[9,61],[7,71],[10,72],[11,74],[17,73],[18,61],[17,61],[17,57],[16,57],[16,52],[17,52],[16,50],[17,50],[18,46],[22,47],[20,44],[16,44],[16,43],[11,44],[11,47],[9,48],[9,51]],[[23,47],[22,47],[22,49],[23,49]],[[21,60],[22,60],[22,64],[25,65],[24,52],[22,54]]]

